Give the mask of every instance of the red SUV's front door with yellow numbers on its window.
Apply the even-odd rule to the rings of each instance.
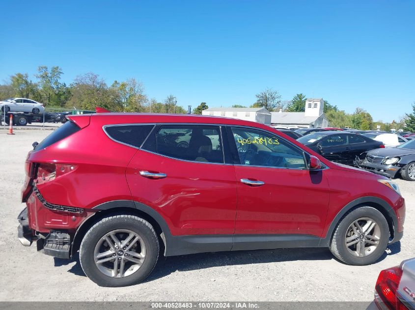
[[[235,234],[321,236],[329,205],[325,170],[308,170],[303,150],[270,132],[229,129],[240,162]]]

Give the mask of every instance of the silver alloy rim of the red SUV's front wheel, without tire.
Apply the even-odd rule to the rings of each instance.
[[[356,257],[372,254],[381,239],[378,223],[370,217],[360,217],[349,225],[344,242],[346,248]]]

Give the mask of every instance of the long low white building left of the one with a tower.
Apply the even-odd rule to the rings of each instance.
[[[271,112],[265,108],[209,108],[203,110],[202,115],[250,120],[267,125],[271,123]]]

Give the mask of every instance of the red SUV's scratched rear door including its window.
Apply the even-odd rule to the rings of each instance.
[[[220,126],[156,126],[127,167],[133,199],[163,216],[173,236],[235,231],[236,180]]]

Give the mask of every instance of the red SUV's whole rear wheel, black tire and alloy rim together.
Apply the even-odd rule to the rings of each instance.
[[[151,273],[159,248],[149,222],[134,215],[113,215],[88,230],[79,257],[83,272],[99,286],[129,286]]]

